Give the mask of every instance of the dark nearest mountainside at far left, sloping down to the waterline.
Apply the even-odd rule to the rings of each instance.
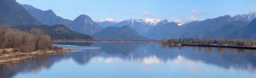
[[[26,32],[37,28],[51,36],[53,40],[92,39],[92,36],[73,32],[63,25],[42,25],[15,0],[0,0],[0,26],[9,26]]]

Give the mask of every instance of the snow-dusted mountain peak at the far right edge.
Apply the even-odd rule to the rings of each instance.
[[[235,21],[241,21],[241,22],[251,22],[255,18],[256,18],[256,11],[252,11],[249,14],[234,15],[233,17]]]

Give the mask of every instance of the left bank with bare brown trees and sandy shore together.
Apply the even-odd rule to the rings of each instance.
[[[42,30],[22,32],[18,29],[0,27],[0,63],[34,58],[35,54],[61,54],[71,50],[53,46],[51,37]]]

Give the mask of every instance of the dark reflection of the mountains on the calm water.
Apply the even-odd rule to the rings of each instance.
[[[24,73],[40,73],[42,69],[52,69],[60,61],[72,59],[77,65],[86,67],[90,61],[104,63],[143,63],[143,65],[161,65],[164,63],[185,63],[186,65],[213,65],[220,69],[235,69],[255,74],[255,50],[235,48],[209,48],[195,46],[166,46],[148,43],[85,43],[65,42],[78,46],[98,47],[95,49],[77,50],[71,54],[44,54],[37,58],[18,63],[0,65],[0,77],[15,77]],[[198,71],[198,70],[194,70]]]

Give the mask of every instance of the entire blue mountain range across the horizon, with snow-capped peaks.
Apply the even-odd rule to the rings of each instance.
[[[256,39],[256,11],[248,14],[238,14],[233,17],[223,15],[201,21],[177,24],[166,19],[125,19],[115,21],[98,20],[94,22],[88,15],[64,19],[51,9],[43,11],[32,5],[20,5],[15,0],[0,1],[0,25],[28,26],[50,28],[61,24],[72,33],[90,34],[99,39],[156,39],[162,38],[245,38]],[[35,27],[36,26],[36,27]],[[25,27],[24,27],[25,28]],[[42,28],[42,29],[47,29]],[[20,28],[22,29],[22,28]],[[54,29],[54,28],[53,28]],[[63,29],[63,28],[60,28]],[[69,33],[66,33],[69,34]],[[78,35],[77,35],[78,36]],[[145,38],[145,37],[147,38]]]

